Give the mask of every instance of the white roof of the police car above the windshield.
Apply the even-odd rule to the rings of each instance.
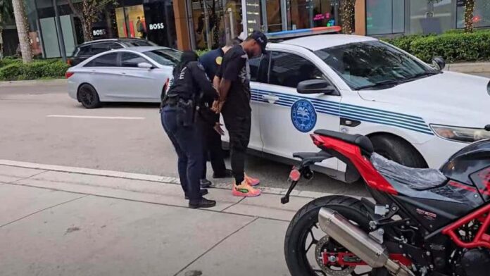
[[[288,44],[294,46],[301,46],[311,51],[317,51],[329,47],[356,43],[356,42],[369,42],[376,41],[373,37],[364,37],[360,35],[311,35],[309,37],[299,37],[294,39],[287,39],[279,44]]]

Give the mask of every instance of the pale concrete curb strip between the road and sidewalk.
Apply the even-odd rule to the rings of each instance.
[[[160,182],[163,184],[180,184],[180,180],[178,180],[175,177],[165,177],[160,175],[144,175],[140,173],[118,172],[114,170],[96,170],[96,169],[89,169],[89,168],[67,167],[61,165],[46,165],[46,164],[2,160],[2,159],[0,159],[0,165],[6,165],[6,166],[18,167],[18,168],[29,168],[35,170],[47,170],[47,171],[54,171],[54,172],[69,172],[69,173],[77,173],[81,175],[115,177],[115,178],[122,178],[127,180],[143,180],[149,182]],[[232,184],[229,183],[213,184],[213,188],[215,189],[231,189],[231,187]],[[260,189],[265,194],[283,195],[286,194],[287,192],[287,189],[281,189],[281,188],[260,187]],[[299,190],[294,190],[293,192],[291,192],[291,196],[306,197],[306,198],[318,198],[327,195],[329,195],[329,193],[299,191]]]

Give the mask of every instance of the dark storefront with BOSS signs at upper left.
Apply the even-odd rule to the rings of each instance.
[[[66,0],[58,0],[61,30],[66,54],[70,56],[77,44],[84,42],[82,23],[73,15]],[[78,2],[74,1],[75,4]],[[177,48],[174,7],[172,0],[119,0],[97,15],[92,25],[93,39],[139,37],[161,46]],[[34,55],[44,58],[61,56],[52,0],[26,1],[27,19]]]

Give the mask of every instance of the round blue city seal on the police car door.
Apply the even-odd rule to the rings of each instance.
[[[291,121],[296,130],[310,132],[315,127],[316,120],[315,106],[310,101],[301,99],[291,106]]]

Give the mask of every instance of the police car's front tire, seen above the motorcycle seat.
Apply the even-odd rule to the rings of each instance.
[[[370,137],[375,152],[410,168],[427,168],[420,153],[406,140],[390,134]]]

